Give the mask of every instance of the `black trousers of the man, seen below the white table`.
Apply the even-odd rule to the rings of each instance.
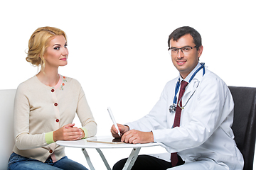
[[[124,167],[125,162],[127,162],[126,159],[122,159],[113,166],[113,170],[122,170]],[[178,165],[184,164],[181,157],[178,156]],[[166,162],[163,159],[158,159],[156,157],[152,157],[146,154],[139,155],[136,161],[134,162],[134,166],[132,166],[131,170],[166,170],[171,168],[171,162]]]

